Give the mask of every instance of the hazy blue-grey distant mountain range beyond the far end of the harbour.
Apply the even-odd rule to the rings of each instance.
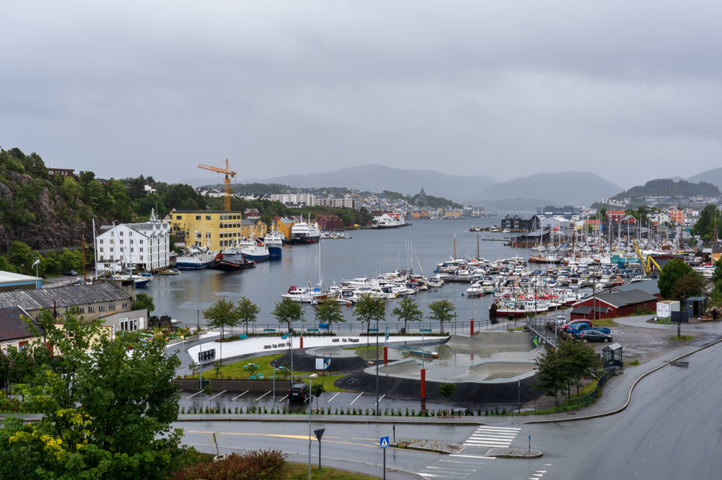
[[[394,169],[383,165],[353,166],[334,172],[285,175],[257,182],[271,182],[296,188],[348,187],[368,192],[391,190],[415,195],[423,187],[429,195],[445,197],[466,205],[502,208],[510,199],[529,208],[544,205],[591,205],[623,189],[596,174],[563,172],[536,174],[508,182],[496,182],[484,175],[449,175],[432,170]]]

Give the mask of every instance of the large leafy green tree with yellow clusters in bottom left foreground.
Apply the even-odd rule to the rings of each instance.
[[[17,386],[38,422],[6,421],[0,430],[0,477],[23,479],[165,479],[181,452],[179,365],[165,341],[135,334],[110,339],[100,321],[66,314],[63,326],[42,311],[41,342],[26,350],[33,375]]]

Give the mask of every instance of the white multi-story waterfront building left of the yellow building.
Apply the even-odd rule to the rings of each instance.
[[[158,221],[155,213],[144,223],[107,225],[100,231],[95,238],[98,272],[152,272],[170,265],[170,223]]]

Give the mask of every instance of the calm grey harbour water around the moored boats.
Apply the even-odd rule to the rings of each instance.
[[[155,315],[168,314],[183,323],[196,324],[200,312],[200,323],[205,324],[203,311],[220,298],[237,301],[240,296],[250,298],[261,308],[258,326],[277,324],[270,312],[279,296],[290,285],[305,285],[310,280],[318,283],[319,252],[323,283],[340,283],[354,277],[375,276],[397,268],[413,267],[414,272],[435,275],[433,270],[438,262],[449,259],[453,253],[453,239],[456,234],[456,256],[477,255],[477,233],[469,232],[472,226],[491,226],[500,222],[501,216],[490,218],[469,218],[460,220],[414,221],[412,226],[388,230],[348,231],[350,240],[323,240],[321,248],[316,245],[285,246],[283,257],[272,262],[261,262],[256,268],[240,272],[217,270],[183,271],[181,275],[155,276],[146,289],[155,303]],[[508,258],[513,255],[528,256],[526,249],[512,249],[504,246],[502,239],[509,234],[480,232],[479,254],[486,259]],[[488,319],[490,295],[482,298],[467,298],[466,283],[447,283],[442,288],[430,289],[414,295],[424,314],[427,305],[436,300],[448,298],[456,306],[458,321],[470,318]],[[395,324],[391,309],[397,301],[386,306],[389,324]],[[305,305],[304,316],[313,323],[313,308]],[[347,320],[355,323],[352,307],[344,307]],[[300,326],[300,325],[299,325]],[[346,324],[343,328],[349,328]]]

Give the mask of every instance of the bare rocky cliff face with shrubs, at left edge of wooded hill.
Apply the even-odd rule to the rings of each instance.
[[[0,205],[4,210],[0,252],[7,252],[13,241],[22,241],[32,249],[79,246],[83,239],[92,243],[92,224],[80,218],[51,182],[16,172],[6,172],[5,176],[7,185],[0,183]],[[19,193],[14,193],[19,190],[25,194],[22,208]],[[82,202],[77,203],[78,210],[83,210]]]

